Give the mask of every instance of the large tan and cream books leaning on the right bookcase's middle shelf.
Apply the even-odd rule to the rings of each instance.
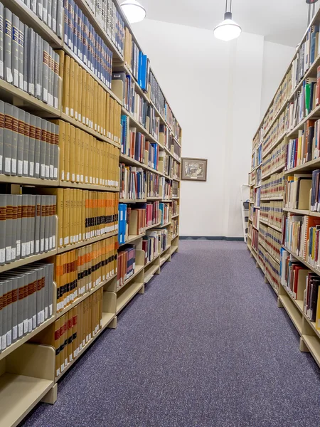
[[[284,181],[285,208],[306,209],[309,211],[309,197],[313,175],[315,176],[315,174],[294,174],[287,176],[287,179]],[[315,190],[315,185],[313,190]]]

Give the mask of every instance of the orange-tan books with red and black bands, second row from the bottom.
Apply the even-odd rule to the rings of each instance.
[[[117,236],[57,255],[57,313],[117,272]]]

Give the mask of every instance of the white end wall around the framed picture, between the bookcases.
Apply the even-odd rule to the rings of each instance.
[[[225,43],[213,31],[148,19],[133,29],[182,127],[183,157],[208,159],[205,183],[181,182],[181,236],[242,236],[240,184],[260,122],[263,37]]]

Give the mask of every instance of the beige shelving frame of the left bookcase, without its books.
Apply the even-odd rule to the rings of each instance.
[[[93,1],[95,3],[95,1]],[[174,162],[178,164],[181,163],[181,159],[174,154],[173,150],[171,151],[166,146],[161,144],[161,141],[157,141],[155,137],[149,134],[146,129],[132,117],[126,110],[124,110],[122,97],[118,97],[116,91],[108,88],[107,85],[102,83],[102,81],[97,78],[97,75],[90,70],[90,68],[85,65],[85,63],[78,58],[75,53],[70,50],[68,46],[64,43],[63,39],[59,38],[41,19],[38,18],[36,14],[28,8],[27,4],[23,3],[22,0],[4,0],[2,1],[5,7],[8,7],[13,14],[16,14],[19,19],[30,28],[40,35],[43,40],[48,41],[51,48],[60,49],[65,52],[66,55],[70,56],[75,60],[76,65],[78,65],[82,70],[85,70],[88,75],[102,88],[105,93],[108,93],[113,100],[115,100],[122,107],[122,112],[126,115],[129,115],[129,120],[132,126],[137,127],[137,129],[142,132],[146,139],[150,142],[156,142],[159,146],[160,151],[166,152]],[[122,53],[119,53],[117,46],[114,45],[110,36],[106,33],[105,29],[100,25],[99,17],[90,9],[90,6],[85,0],[75,0],[82,10],[83,14],[87,17],[88,21],[92,24],[93,28],[97,34],[102,38],[102,41],[107,45],[108,48],[112,51],[112,70],[117,70],[119,68],[124,69],[125,72],[131,75],[132,79],[134,77],[127,66],[124,64],[124,56]],[[129,28],[129,31],[132,33],[133,40],[139,43],[134,37],[132,28],[130,27],[127,19],[122,14],[122,9],[119,4],[115,2],[117,11],[122,16],[125,26]],[[152,71],[154,73],[154,71]],[[95,84],[96,84],[95,83]],[[174,135],[174,129],[171,128],[169,120],[167,121],[162,117],[159,110],[156,109],[154,103],[150,99],[150,88],[147,93],[139,88],[139,85],[135,85],[135,90],[139,93],[140,96],[149,102],[151,106],[154,107],[156,111],[156,117],[159,117],[161,124],[169,127],[169,132],[174,139],[174,141],[181,147],[181,134],[178,138]],[[14,85],[7,83],[5,80],[0,80],[0,100],[9,102],[11,105],[21,108],[27,112],[31,112],[33,115],[36,115],[46,120],[63,120],[68,124],[75,127],[76,130],[81,130],[91,137],[95,137],[100,142],[105,144],[110,144],[113,147],[117,147],[119,152],[121,150],[121,144],[115,142],[113,139],[101,135],[99,132],[96,132],[92,127],[84,125],[82,122],[75,120],[73,117],[66,115],[63,112],[62,100],[63,100],[63,78],[58,78],[58,108],[50,107],[46,102],[29,95],[29,93],[24,92],[23,90],[16,88]],[[167,102],[167,98],[165,98]],[[169,104],[168,104],[169,105]],[[168,176],[164,173],[164,169],[161,169],[163,165],[159,165],[159,170],[155,170],[146,164],[137,162],[130,157],[121,154],[119,162],[124,162],[125,164],[142,167],[144,171],[153,172],[163,177],[167,181],[171,182],[176,181],[178,183],[178,189],[180,188],[180,176],[177,174],[174,175],[173,171],[170,171]],[[58,168],[58,176],[60,176],[60,170]],[[79,181],[79,179],[78,179]],[[6,191],[12,194],[18,194],[21,188],[24,186],[31,186],[35,192],[37,189],[74,189],[74,190],[88,190],[88,191],[110,191],[113,193],[119,193],[119,188],[111,186],[101,186],[95,184],[85,184],[81,182],[73,181],[63,181],[61,179],[36,179],[26,176],[6,176],[0,174],[0,183],[4,184],[3,187],[6,188]],[[179,194],[179,190],[178,190]],[[169,200],[163,200],[164,193],[161,192],[159,196],[147,197],[144,200],[131,200],[131,199],[120,199],[120,203],[128,204],[140,204],[140,203],[151,203],[152,201],[164,202],[166,204],[171,204],[173,200],[177,201],[177,213],[174,214],[171,218],[171,221],[164,224],[163,227],[170,227],[169,231],[169,244],[166,247],[165,251],[159,253],[146,265],[137,265],[134,275],[129,278],[124,287],[117,290],[117,272],[114,275],[110,276],[106,280],[102,281],[90,291],[85,292],[84,295],[81,295],[73,303],[69,304],[62,311],[57,312],[56,310],[56,298],[57,298],[57,289],[55,283],[53,283],[53,315],[48,320],[43,322],[32,332],[26,334],[24,337],[18,341],[11,344],[9,347],[4,349],[0,353],[0,410],[1,410],[1,420],[0,427],[12,427],[17,426],[23,418],[30,412],[39,401],[43,401],[49,404],[54,404],[57,399],[58,394],[58,381],[65,375],[65,373],[73,367],[73,364],[82,356],[84,352],[90,347],[90,345],[97,339],[100,334],[106,328],[115,328],[117,327],[117,315],[124,307],[132,300],[132,298],[137,295],[144,293],[144,285],[149,283],[151,278],[160,273],[161,267],[166,260],[171,260],[171,255],[178,251],[178,231],[175,233],[171,231],[172,219],[179,221],[179,197],[170,197]],[[59,221],[59,218],[58,218]],[[152,230],[161,226],[161,222],[156,223],[152,226],[146,227],[146,231]],[[172,228],[173,230],[173,228]],[[142,237],[145,235],[146,231],[139,236],[129,236],[126,243],[131,243],[139,246],[142,243]],[[23,265],[29,265],[36,261],[49,261],[54,262],[56,255],[68,255],[69,251],[80,250],[85,248],[88,245],[94,245],[105,241],[105,239],[112,236],[117,236],[117,232],[105,233],[101,236],[87,239],[85,241],[80,241],[78,243],[70,244],[68,246],[58,247],[52,251],[45,253],[39,253],[37,255],[31,255],[27,258],[22,258],[16,260],[12,263],[7,263],[0,266],[0,273],[6,271],[11,271],[14,268],[21,267]],[[58,235],[55,238],[56,243],[58,243]],[[139,246],[140,247],[140,246]],[[55,375],[55,349],[52,344],[46,342],[46,339],[43,337],[48,337],[51,334],[51,331],[54,332],[55,322],[61,320],[61,318],[70,313],[70,310],[73,310],[81,302],[87,300],[95,292],[102,292],[102,319],[100,321],[100,329],[97,330],[94,336],[89,339],[88,342],[82,347],[81,351],[77,354],[76,357],[73,357],[72,361],[68,363],[65,369],[58,375]],[[87,300],[88,301],[88,300]],[[138,314],[137,314],[138,315]],[[41,362],[41,363],[40,363]]]

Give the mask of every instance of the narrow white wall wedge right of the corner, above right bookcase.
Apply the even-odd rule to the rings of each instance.
[[[279,87],[284,73],[291,62],[295,48],[265,41],[262,64],[262,89],[260,104],[260,120],[262,120],[272,97]]]

